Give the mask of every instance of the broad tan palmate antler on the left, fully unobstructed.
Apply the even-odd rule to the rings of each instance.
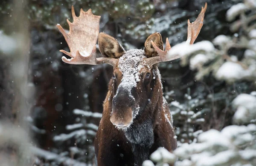
[[[89,65],[108,63],[115,66],[117,60],[114,58],[96,58],[96,42],[99,35],[100,16],[93,15],[91,9],[86,12],[81,9],[79,17],[76,17],[74,6],[72,6],[72,17],[73,23],[67,20],[70,26],[69,33],[66,33],[61,25],[57,25],[70,48],[70,52],[60,50],[60,52],[71,57],[71,59],[67,59],[63,56],[61,58],[62,61],[69,64]]]

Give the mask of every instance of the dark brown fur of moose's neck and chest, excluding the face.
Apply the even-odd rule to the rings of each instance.
[[[152,71],[151,71],[152,72]],[[103,117],[99,124],[99,129],[95,137],[95,152],[98,166],[141,166],[143,160],[140,160],[140,152],[145,149],[149,155],[158,147],[164,147],[172,152],[177,147],[174,138],[175,133],[169,122],[166,121],[165,114],[171,116],[170,110],[163,105],[163,92],[161,89],[160,78],[156,78],[154,83],[148,85],[152,87],[151,103],[146,106],[145,110],[134,119],[132,127],[140,126],[145,121],[152,122],[154,132],[154,143],[151,147],[140,147],[140,145],[131,143],[124,135],[122,130],[116,129],[111,123],[112,99],[113,99],[113,80],[109,83],[109,91],[103,104]],[[143,82],[141,82],[142,84]],[[138,87],[141,87],[139,85]],[[134,147],[135,146],[135,147]],[[136,148],[135,152],[132,149]],[[122,155],[120,155],[122,154]],[[145,160],[144,159],[144,160]]]

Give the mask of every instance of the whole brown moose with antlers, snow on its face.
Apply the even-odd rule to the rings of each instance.
[[[195,22],[188,20],[186,43],[193,44],[203,26],[207,3]],[[71,57],[65,63],[113,66],[113,77],[103,103],[103,115],[94,140],[97,166],[141,166],[158,147],[172,152],[177,147],[172,115],[163,97],[158,63],[179,58],[170,56],[168,38],[163,50],[161,34],[151,34],[144,49],[125,51],[118,41],[99,33],[100,16],[81,9],[76,17],[72,6],[73,23],[69,33],[58,24]],[[96,42],[103,57],[96,57]]]

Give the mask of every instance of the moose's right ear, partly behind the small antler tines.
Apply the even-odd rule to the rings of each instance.
[[[156,32],[154,34],[151,34],[144,44],[144,51],[146,54],[146,57],[155,57],[157,56],[157,52],[155,51],[154,47],[152,46],[151,40],[157,45],[157,47],[161,50],[163,50],[163,41],[162,36],[160,33]]]

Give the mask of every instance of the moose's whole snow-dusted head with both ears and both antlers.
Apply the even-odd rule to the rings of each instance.
[[[206,6],[201,10],[195,22],[188,21],[188,37],[186,43],[193,44],[203,26]],[[80,11],[76,17],[72,6],[73,23],[69,33],[58,24],[57,27],[65,37],[70,52],[60,50],[71,59],[62,57],[69,64],[99,65],[108,63],[113,66],[113,77],[110,80],[106,100],[111,101],[110,121],[118,129],[127,129],[134,118],[150,103],[154,105],[159,100],[157,94],[162,92],[160,74],[157,68],[159,62],[171,61],[179,55],[168,56],[171,49],[166,38],[166,49],[163,51],[161,34],[151,34],[144,44],[144,50],[131,49],[125,51],[118,41],[105,33],[99,33],[100,16],[93,15],[91,9]],[[103,57],[96,58],[96,42],[99,41],[99,51]],[[162,94],[161,94],[162,95]],[[105,102],[106,102],[105,100]]]

